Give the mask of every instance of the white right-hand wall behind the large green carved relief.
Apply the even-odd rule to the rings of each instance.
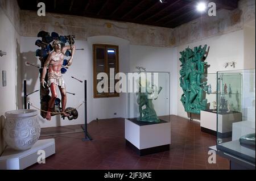
[[[221,70],[240,70],[243,69],[243,30],[228,33],[226,35],[212,37],[207,40],[197,41],[195,43],[186,44],[177,47],[178,58],[179,52],[187,48],[188,46],[193,49],[199,45],[207,44],[210,47],[209,54],[206,62],[210,65],[208,73],[216,73]],[[236,61],[236,68],[224,68],[225,62]],[[177,64],[177,77],[179,78],[179,70],[181,63]],[[180,102],[180,97],[183,94],[182,89],[177,81],[177,115],[181,117],[188,117],[187,112],[184,111],[183,104]]]

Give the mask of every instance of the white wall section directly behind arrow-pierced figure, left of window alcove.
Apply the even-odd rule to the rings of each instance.
[[[22,70],[20,70],[20,77],[27,80],[27,94],[35,90],[40,89],[40,79],[39,71],[34,66],[27,66],[25,63],[29,62],[30,64],[40,66],[39,59],[35,56],[35,51],[39,47],[35,45],[35,41],[38,37],[21,37],[20,51],[21,51],[21,62]],[[82,103],[84,100],[84,83],[80,83],[75,79],[72,79],[71,76],[76,77],[81,80],[88,80],[88,86],[90,86],[90,66],[88,60],[88,45],[86,41],[76,41],[77,48],[84,48],[85,50],[77,50],[73,59],[72,66],[63,74],[64,81],[67,86],[67,91],[75,93],[76,95],[67,94],[67,106],[66,107],[76,107]],[[65,57],[68,58],[68,57]],[[23,96],[23,89],[21,96]],[[20,95],[19,95],[20,96]],[[61,99],[60,92],[58,91],[58,97]],[[28,96],[28,101],[30,101],[34,106],[40,108],[40,92],[35,92],[34,94]],[[88,107],[90,107],[90,102],[88,102]],[[31,107],[31,109],[35,109]],[[40,124],[44,127],[56,127],[64,125],[73,125],[73,124],[82,124],[84,123],[84,105],[79,109],[79,118],[76,120],[69,121],[68,119],[61,119],[61,117],[53,116],[51,121],[47,121],[40,117]],[[91,115],[88,112],[88,115]],[[90,117],[88,116],[88,121]]]

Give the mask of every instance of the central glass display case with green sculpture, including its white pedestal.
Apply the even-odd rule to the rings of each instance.
[[[127,73],[125,140],[137,154],[170,150],[170,73]]]

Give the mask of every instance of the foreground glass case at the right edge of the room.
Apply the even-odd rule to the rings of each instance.
[[[217,72],[217,149],[255,165],[255,69]]]

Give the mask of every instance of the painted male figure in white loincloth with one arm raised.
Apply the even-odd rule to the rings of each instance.
[[[65,107],[67,103],[67,95],[65,90],[65,83],[64,79],[61,75],[61,66],[63,65],[64,60],[64,54],[67,50],[71,49],[71,58],[68,61],[68,66],[72,64],[73,61],[73,55],[75,53],[75,45],[70,46],[64,46],[61,48],[61,42],[59,40],[55,40],[52,43],[52,47],[54,48],[54,51],[51,52],[44,64],[41,83],[42,86],[45,87],[46,81],[44,78],[46,77],[47,68],[48,68],[48,87],[51,89],[51,99],[49,100],[48,104],[48,112],[46,114],[46,119],[51,120],[51,111],[54,110],[54,103],[55,99],[57,98],[57,89],[56,86],[59,87],[60,93],[61,93],[61,115],[63,116],[69,116],[68,113],[65,113]]]

